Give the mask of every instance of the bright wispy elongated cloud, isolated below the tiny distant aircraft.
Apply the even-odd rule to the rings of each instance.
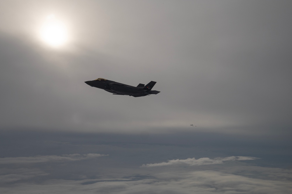
[[[223,161],[239,161],[239,160],[255,160],[260,159],[256,157],[248,156],[230,156],[226,158],[188,158],[188,159],[176,159],[168,160],[168,162],[154,163],[154,164],[143,164],[141,167],[155,167],[155,166],[169,166],[169,165],[190,165],[190,166],[199,166],[199,165],[208,165],[208,164],[222,164]]]

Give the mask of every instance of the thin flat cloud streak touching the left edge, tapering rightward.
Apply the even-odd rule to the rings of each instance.
[[[60,162],[60,161],[77,161],[93,159],[100,156],[108,156],[105,154],[64,154],[61,156],[30,156],[30,157],[7,157],[0,158],[0,164],[20,164],[20,163],[39,163],[39,162]]]

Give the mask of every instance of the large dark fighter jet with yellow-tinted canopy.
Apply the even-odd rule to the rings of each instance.
[[[150,94],[158,94],[159,91],[151,90],[155,85],[155,81],[150,81],[146,86],[139,83],[137,87],[129,86],[123,83],[98,78],[92,81],[85,81],[91,87],[100,88],[115,95],[128,95],[133,97],[147,96]]]

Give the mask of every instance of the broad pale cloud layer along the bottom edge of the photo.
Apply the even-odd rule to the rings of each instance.
[[[240,166],[238,166],[240,168]],[[258,167],[255,167],[258,168]],[[188,169],[189,170],[189,169]],[[255,170],[255,169],[254,169]],[[269,172],[273,168],[261,168]],[[287,174],[291,177],[291,170],[274,169],[279,174]],[[232,173],[218,172],[214,170],[194,171],[167,171],[154,172],[154,177],[137,179],[84,179],[84,180],[60,180],[51,179],[42,184],[15,184],[11,188],[0,188],[1,193],[118,193],[118,194],[236,194],[236,193],[290,193],[291,181],[265,180],[249,176],[234,175]]]

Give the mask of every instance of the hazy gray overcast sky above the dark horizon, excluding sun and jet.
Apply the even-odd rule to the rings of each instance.
[[[2,1],[1,127],[291,128],[291,2],[280,2]],[[50,14],[67,28],[58,48],[39,38]],[[98,77],[157,81],[161,93],[114,96],[84,83]]]

